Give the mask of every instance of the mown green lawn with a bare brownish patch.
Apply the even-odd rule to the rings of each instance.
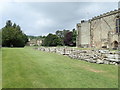
[[[32,48],[3,48],[3,88],[118,88],[118,67]]]

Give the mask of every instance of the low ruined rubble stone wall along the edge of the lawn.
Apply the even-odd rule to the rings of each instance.
[[[75,48],[56,48],[56,47],[41,47],[35,48],[40,51],[58,53],[67,55],[72,59],[83,60],[96,64],[112,64],[118,65],[120,63],[120,57],[118,51],[109,50],[77,50]]]

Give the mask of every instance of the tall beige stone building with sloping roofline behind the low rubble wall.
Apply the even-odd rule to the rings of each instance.
[[[120,9],[77,24],[77,47],[118,48]]]

